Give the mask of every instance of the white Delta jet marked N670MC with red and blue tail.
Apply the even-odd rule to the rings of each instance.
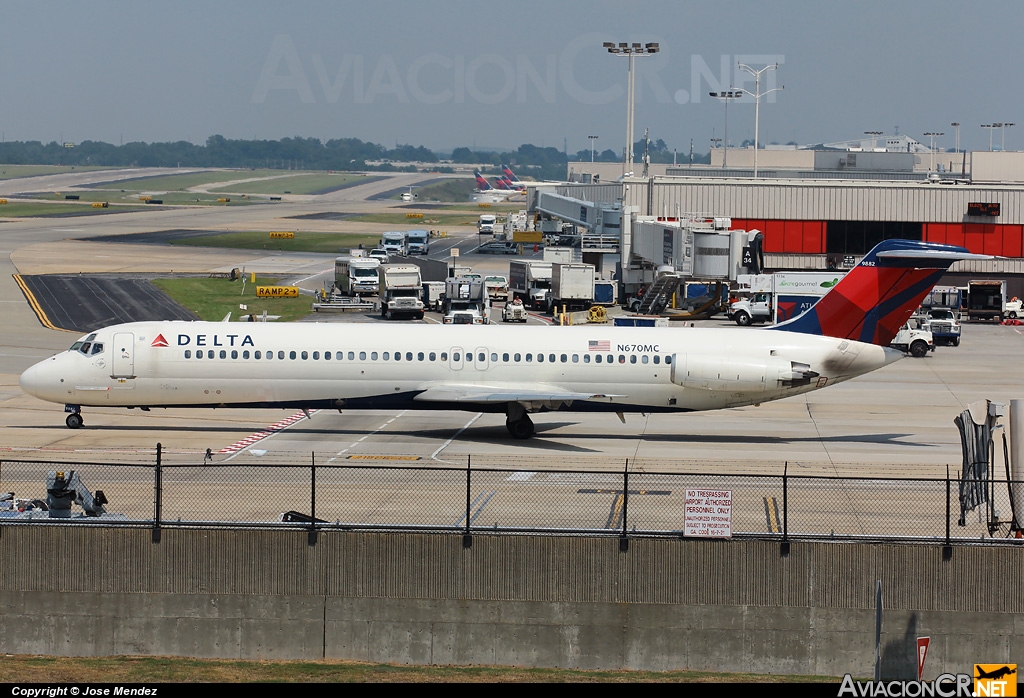
[[[22,389],[82,407],[670,412],[759,404],[901,358],[896,332],[959,247],[886,241],[827,295],[765,330],[133,322],[31,366]]]

